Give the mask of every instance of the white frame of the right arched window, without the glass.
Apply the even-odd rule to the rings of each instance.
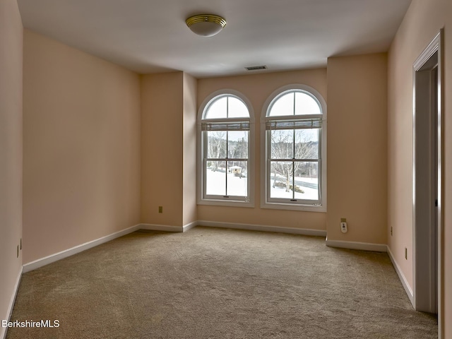
[[[292,90],[300,90],[316,100],[319,103],[321,109],[321,137],[319,139],[320,156],[319,156],[319,184],[320,184],[320,203],[312,204],[307,201],[290,201],[291,199],[283,198],[270,198],[270,160],[269,155],[269,142],[267,141],[266,122],[268,120],[294,120],[294,119],[309,119],[312,116],[299,115],[299,116],[281,116],[281,117],[267,117],[269,109],[273,106],[273,103],[279,99],[282,95],[289,93]],[[299,200],[299,199],[297,199]],[[273,208],[279,210],[305,210],[311,212],[326,212],[326,101],[322,95],[311,88],[308,85],[302,85],[299,83],[285,85],[275,90],[266,100],[262,107],[261,112],[261,208]]]

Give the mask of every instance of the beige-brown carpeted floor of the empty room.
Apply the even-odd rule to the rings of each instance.
[[[25,273],[8,339],[437,338],[387,254],[321,237],[134,232]]]

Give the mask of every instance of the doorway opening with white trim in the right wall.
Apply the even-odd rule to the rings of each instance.
[[[413,306],[441,338],[441,32],[413,69]]]

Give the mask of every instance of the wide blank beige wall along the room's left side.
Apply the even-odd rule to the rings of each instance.
[[[25,30],[24,263],[140,221],[140,81]]]

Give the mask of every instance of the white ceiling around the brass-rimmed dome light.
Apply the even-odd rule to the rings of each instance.
[[[332,56],[386,52],[411,0],[18,0],[25,28],[138,73],[198,78],[326,66]],[[199,37],[189,16],[223,16]],[[262,71],[254,71],[262,72]],[[265,71],[264,71],[265,72]]]

